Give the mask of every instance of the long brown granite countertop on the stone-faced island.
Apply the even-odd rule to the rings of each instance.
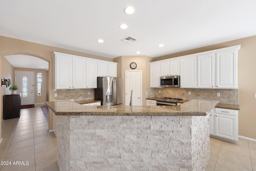
[[[84,106],[70,100],[48,101],[55,115],[205,116],[219,101],[194,99],[177,106]]]

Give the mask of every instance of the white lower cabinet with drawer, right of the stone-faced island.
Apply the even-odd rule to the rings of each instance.
[[[211,135],[238,142],[238,110],[215,108],[209,117]]]

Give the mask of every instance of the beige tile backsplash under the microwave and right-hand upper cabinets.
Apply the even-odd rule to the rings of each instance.
[[[160,90],[160,93],[159,93]],[[188,95],[188,92],[191,95]],[[179,87],[164,87],[164,88],[151,88],[147,87],[148,97],[173,97],[181,98],[184,100],[191,99],[205,99],[205,100],[219,100],[220,103],[238,105],[238,89],[192,89],[192,88],[179,88]],[[220,93],[220,97],[217,97]]]

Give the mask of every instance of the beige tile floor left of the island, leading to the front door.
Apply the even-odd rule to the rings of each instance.
[[[0,161],[11,161],[12,165],[0,165],[0,171],[59,171],[56,137],[49,133],[40,106],[22,109],[20,118],[2,121]],[[24,161],[24,165],[13,165],[14,161]]]

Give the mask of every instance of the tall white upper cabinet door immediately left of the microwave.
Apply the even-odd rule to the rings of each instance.
[[[150,87],[160,87],[161,63],[150,64]]]

